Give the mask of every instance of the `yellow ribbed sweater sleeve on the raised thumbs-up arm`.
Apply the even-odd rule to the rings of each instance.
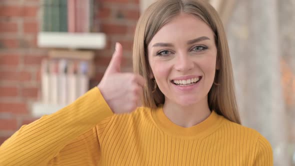
[[[61,110],[23,125],[0,146],[0,165],[70,165],[74,156],[94,162],[90,151],[100,151],[95,124],[111,115],[94,87]]]

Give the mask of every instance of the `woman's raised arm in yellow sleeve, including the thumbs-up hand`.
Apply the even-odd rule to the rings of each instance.
[[[100,149],[97,133],[91,128],[99,122],[105,124],[101,120],[113,113],[135,110],[143,95],[144,78],[121,73],[121,59],[122,46],[116,43],[99,89],[92,88],[56,113],[22,126],[0,146],[0,165],[97,163]]]

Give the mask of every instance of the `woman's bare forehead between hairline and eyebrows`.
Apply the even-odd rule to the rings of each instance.
[[[148,47],[156,42],[186,42],[200,36],[207,36],[212,41],[214,38],[213,31],[203,20],[193,15],[179,14],[156,32]]]

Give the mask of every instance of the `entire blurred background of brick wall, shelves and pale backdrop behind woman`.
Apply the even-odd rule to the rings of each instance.
[[[242,124],[295,165],[295,0],[209,0],[227,33]],[[132,71],[151,0],[0,0],[0,144],[100,81],[115,42]],[[75,90],[72,90],[75,89]]]

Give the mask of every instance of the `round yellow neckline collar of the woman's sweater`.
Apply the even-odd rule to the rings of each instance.
[[[156,126],[174,136],[180,137],[203,137],[215,131],[221,124],[223,116],[211,111],[210,115],[200,123],[191,127],[182,127],[173,123],[163,112],[162,106],[151,111],[152,118]]]

